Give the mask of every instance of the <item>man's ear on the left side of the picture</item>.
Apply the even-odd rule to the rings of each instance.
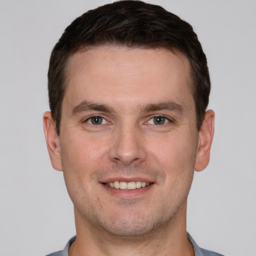
[[[62,170],[59,136],[55,130],[55,122],[49,111],[43,114],[43,130],[51,165],[56,170]]]

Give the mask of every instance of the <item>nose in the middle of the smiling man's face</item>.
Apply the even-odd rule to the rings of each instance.
[[[109,158],[125,165],[140,163],[146,158],[143,132],[135,125],[122,125],[113,132]]]

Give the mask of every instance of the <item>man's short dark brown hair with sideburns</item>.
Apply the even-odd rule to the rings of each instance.
[[[183,53],[190,62],[197,129],[204,119],[210,92],[206,56],[192,26],[158,5],[122,0],[97,7],[76,18],[55,44],[49,61],[48,96],[59,135],[68,58],[88,46],[114,44],[167,48]]]

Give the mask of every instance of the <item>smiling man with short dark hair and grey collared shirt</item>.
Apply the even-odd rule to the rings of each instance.
[[[192,27],[160,6],[118,1],[65,29],[43,123],[76,236],[49,255],[220,255],[186,232],[193,172],[208,164],[214,131],[209,91]]]

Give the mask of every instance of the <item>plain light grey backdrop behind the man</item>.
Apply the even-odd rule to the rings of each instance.
[[[42,129],[46,73],[64,28],[110,0],[0,0],[0,255],[39,256],[75,234]],[[187,230],[225,256],[256,255],[256,1],[149,0],[188,21],[208,59],[215,137],[195,173]]]

